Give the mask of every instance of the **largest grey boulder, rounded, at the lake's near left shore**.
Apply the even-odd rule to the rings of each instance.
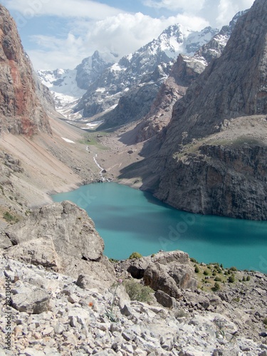
[[[13,244],[50,237],[60,256],[98,261],[103,256],[103,240],[85,210],[70,201],[43,206],[28,219],[6,230]]]

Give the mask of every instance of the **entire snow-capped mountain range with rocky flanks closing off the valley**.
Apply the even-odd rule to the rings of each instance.
[[[104,115],[108,122],[109,112],[114,111],[119,101],[123,109],[119,110],[120,113],[117,108],[114,111],[116,120],[119,116],[126,122],[128,116],[131,120],[137,120],[140,115],[147,115],[179,54],[183,54],[185,62],[195,61],[204,70],[212,58],[221,55],[241,15],[236,14],[229,26],[224,26],[221,31],[211,27],[192,31],[181,24],[169,26],[158,38],[119,61],[112,53],[95,51],[75,70],[39,70],[38,75],[53,91],[58,111],[71,120],[81,117],[93,120],[95,115],[99,120],[99,116]],[[132,110],[125,115],[123,110],[129,107],[127,103],[131,103],[133,96],[144,99],[145,109],[140,112],[134,110],[136,115],[132,114]],[[135,106],[140,105],[142,103]],[[116,120],[112,117],[112,125]]]

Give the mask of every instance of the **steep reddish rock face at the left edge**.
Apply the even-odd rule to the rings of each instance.
[[[0,5],[0,132],[51,134],[33,68],[21,45],[16,23]]]

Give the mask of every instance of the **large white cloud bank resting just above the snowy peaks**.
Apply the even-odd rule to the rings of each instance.
[[[28,51],[36,69],[75,68],[95,50],[125,56],[157,38],[167,26],[181,23],[195,31],[208,26],[204,19],[187,14],[152,19],[141,13],[118,14],[100,21],[73,21],[67,38],[31,36],[38,50]]]

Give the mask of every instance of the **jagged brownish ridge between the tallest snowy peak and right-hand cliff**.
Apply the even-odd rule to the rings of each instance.
[[[172,118],[172,109],[177,100],[183,98],[187,88],[197,79],[206,66],[214,59],[221,56],[229,40],[236,21],[247,11],[240,11],[230,21],[229,26],[223,26],[208,43],[204,43],[194,56],[185,56],[180,53],[177,61],[172,66],[167,80],[162,83],[157,93],[157,98],[152,103],[150,111],[137,125],[136,142],[142,142],[157,135],[169,124]]]

